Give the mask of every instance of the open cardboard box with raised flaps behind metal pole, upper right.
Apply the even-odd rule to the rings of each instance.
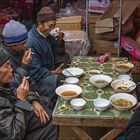
[[[123,0],[122,5],[122,24],[125,24],[128,18],[132,15],[136,7],[140,4],[140,0]],[[114,18],[117,20],[120,16],[120,6],[117,0],[111,2],[105,13],[96,22],[96,33],[112,32],[114,30]]]

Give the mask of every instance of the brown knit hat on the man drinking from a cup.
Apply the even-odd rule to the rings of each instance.
[[[50,7],[42,7],[37,14],[38,22],[56,20],[56,13]]]

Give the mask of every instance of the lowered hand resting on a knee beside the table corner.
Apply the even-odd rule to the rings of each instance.
[[[37,117],[40,118],[41,123],[46,124],[47,120],[50,120],[50,118],[45,109],[43,108],[43,106],[37,100],[33,100],[31,104],[34,109],[34,113],[36,114]]]

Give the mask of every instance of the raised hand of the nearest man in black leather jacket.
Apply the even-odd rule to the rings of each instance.
[[[22,83],[17,88],[16,96],[18,99],[25,101],[29,93],[29,82],[23,77]]]

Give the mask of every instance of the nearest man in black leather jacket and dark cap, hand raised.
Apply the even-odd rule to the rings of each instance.
[[[26,77],[17,88],[16,97],[12,93],[9,85],[12,72],[9,54],[0,48],[0,139],[56,140],[57,127],[49,121],[45,125],[40,123],[26,101],[29,92]]]

